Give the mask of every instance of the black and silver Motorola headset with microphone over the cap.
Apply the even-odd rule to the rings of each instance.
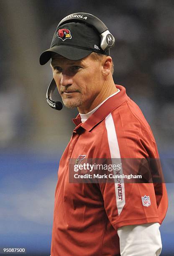
[[[90,25],[93,28],[95,28],[97,32],[100,34],[100,37],[101,37],[100,47],[103,51],[107,51],[115,45],[114,36],[109,32],[107,26],[105,26],[105,24],[94,15],[90,13],[72,13],[66,16],[65,18],[63,18],[59,22],[57,28],[59,28],[59,26],[65,23],[71,23],[71,22],[86,23],[87,25]],[[51,83],[49,84],[48,90],[46,92],[46,101],[51,108],[55,110],[61,110],[63,108],[62,103],[59,101],[52,100],[52,97],[51,97],[55,89],[56,89],[56,82],[54,81],[54,79],[52,79]]]

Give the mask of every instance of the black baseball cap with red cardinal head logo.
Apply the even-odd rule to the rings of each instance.
[[[70,60],[82,59],[93,51],[110,55],[109,50],[101,49],[100,41],[98,31],[85,23],[71,22],[61,25],[54,33],[50,49],[41,54],[40,64],[46,64],[51,59],[51,53],[60,54]]]

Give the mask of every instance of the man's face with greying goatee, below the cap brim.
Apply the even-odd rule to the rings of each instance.
[[[90,109],[102,87],[102,64],[92,56],[72,61],[58,54],[51,67],[57,88],[67,108]]]

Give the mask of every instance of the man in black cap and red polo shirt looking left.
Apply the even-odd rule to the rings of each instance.
[[[84,17],[84,16],[82,16]],[[154,136],[141,110],[115,85],[109,51],[94,27],[58,26],[51,48],[54,81],[67,108],[77,108],[76,128],[59,163],[51,256],[159,256],[167,210],[164,184],[71,183],[76,159],[158,159]]]

